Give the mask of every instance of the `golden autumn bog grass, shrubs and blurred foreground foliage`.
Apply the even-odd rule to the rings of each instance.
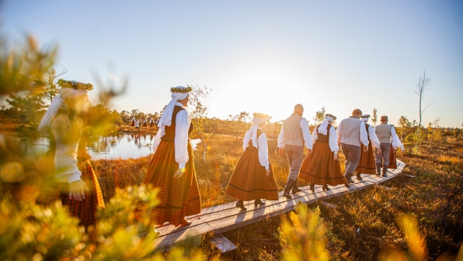
[[[95,228],[79,227],[61,203],[36,205],[40,187],[49,180],[40,159],[26,143],[36,139],[37,124],[59,88],[65,68],[54,69],[57,49],[40,49],[33,38],[11,48],[0,41],[0,94],[8,104],[0,110],[0,260],[454,260],[463,258],[463,145],[460,129],[427,128],[402,116],[398,134],[406,148],[400,158],[405,174],[379,187],[333,198],[335,208],[300,205],[295,212],[226,233],[238,246],[221,254],[203,235],[157,250],[148,220],[157,205],[156,189],[141,184],[149,157],[93,161],[106,209]],[[127,83],[97,81],[100,103],[92,106],[89,124],[94,136],[113,136],[130,129],[130,120],[162,114],[108,109]],[[246,111],[227,119],[207,118],[210,89],[196,86],[191,114],[195,134],[204,143],[195,152],[203,206],[235,200],[224,190],[241,153],[239,136],[249,128]],[[376,114],[376,113],[374,113]],[[324,116],[315,113],[312,129]],[[281,121],[269,118],[264,130],[278,189],[283,189],[288,162],[276,153]],[[148,127],[146,129],[149,129]],[[150,129],[156,132],[156,128]],[[341,158],[340,161],[343,161]],[[301,182],[301,181],[299,181]],[[304,186],[303,182],[299,184]]]

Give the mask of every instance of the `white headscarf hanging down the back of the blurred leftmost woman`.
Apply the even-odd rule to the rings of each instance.
[[[45,112],[42,120],[40,120],[40,124],[38,125],[38,132],[41,136],[48,136],[47,129],[52,125],[52,120],[58,113],[58,110],[63,106],[64,99],[76,99],[78,97],[88,95],[88,90],[80,90],[80,89],[73,89],[73,88],[61,88],[58,90],[58,95],[54,97],[52,104]]]

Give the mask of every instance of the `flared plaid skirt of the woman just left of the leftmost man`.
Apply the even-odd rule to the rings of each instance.
[[[265,167],[260,166],[258,152],[244,150],[240,157],[226,193],[239,200],[278,200],[278,187],[274,178],[272,164],[269,164],[270,175],[265,175]]]

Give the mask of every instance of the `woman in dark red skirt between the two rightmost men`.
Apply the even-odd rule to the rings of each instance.
[[[364,152],[364,146],[361,145],[359,165],[355,169],[357,180],[362,180],[360,175],[361,173],[375,174],[375,150],[373,150],[373,148],[377,148],[378,152],[381,151],[379,148],[379,139],[376,136],[373,127],[367,123],[368,118],[370,118],[370,114],[364,114],[360,117],[360,119],[365,122],[365,128],[370,143],[368,143],[368,152]]]

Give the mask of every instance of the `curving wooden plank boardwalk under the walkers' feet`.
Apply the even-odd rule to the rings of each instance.
[[[247,210],[243,211],[235,207],[235,203],[227,203],[214,207],[206,207],[201,209],[201,214],[189,216],[187,219],[193,221],[189,226],[180,226],[175,228],[172,225],[162,226],[158,228],[159,236],[155,239],[157,248],[164,248],[180,242],[189,237],[201,235],[205,232],[214,231],[216,234],[227,232],[235,228],[249,225],[267,219],[267,217],[278,216],[285,212],[290,212],[297,206],[297,203],[311,204],[317,200],[326,200],[342,196],[345,193],[352,193],[366,189],[370,186],[378,185],[386,180],[391,180],[396,177],[405,167],[405,163],[397,161],[399,166],[393,171],[388,171],[388,177],[378,177],[376,175],[362,174],[363,180],[357,181],[354,177],[354,184],[350,184],[350,188],[344,185],[330,187],[329,191],[322,191],[321,186],[315,186],[315,193],[312,193],[309,187],[301,187],[302,191],[297,194],[292,194],[291,199],[283,196],[283,191],[280,191],[278,200],[267,200],[265,205],[255,206],[253,201],[245,201]],[[385,189],[389,189],[384,187]]]

